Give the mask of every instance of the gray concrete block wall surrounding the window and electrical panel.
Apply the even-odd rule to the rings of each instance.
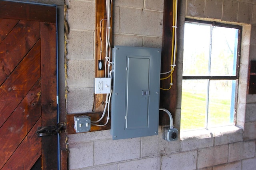
[[[113,44],[161,47],[164,0],[113,0]],[[167,142],[159,135],[113,141],[110,131],[68,135],[70,170],[251,170],[256,166],[255,95],[247,95],[248,63],[256,46],[256,1],[179,0],[177,84],[174,124],[180,126],[185,18],[243,26],[237,125],[180,132]],[[66,0],[68,5],[67,113],[92,111],[95,1]]]

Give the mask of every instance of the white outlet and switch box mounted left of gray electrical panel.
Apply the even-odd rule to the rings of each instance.
[[[109,94],[111,90],[111,78],[95,78],[95,94]]]

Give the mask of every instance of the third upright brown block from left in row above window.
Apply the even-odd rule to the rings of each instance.
[[[238,13],[238,1],[235,1],[235,0],[223,1],[222,20],[237,21],[237,13]]]

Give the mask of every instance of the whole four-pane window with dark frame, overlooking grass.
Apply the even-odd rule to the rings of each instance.
[[[181,130],[234,124],[241,30],[185,22]]]

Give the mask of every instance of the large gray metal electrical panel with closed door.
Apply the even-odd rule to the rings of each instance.
[[[158,134],[161,49],[113,49],[113,140]]]

